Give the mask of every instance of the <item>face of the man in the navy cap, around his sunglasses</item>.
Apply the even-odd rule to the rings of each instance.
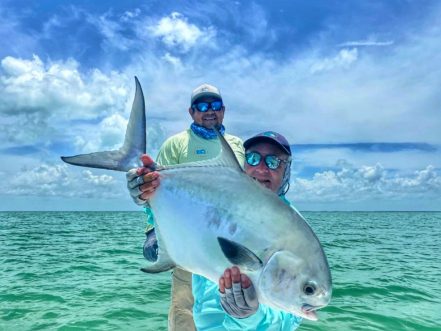
[[[247,149],[246,153],[248,152],[258,152],[262,158],[260,163],[256,166],[251,166],[245,161],[245,172],[248,176],[253,177],[271,191],[277,193],[280,185],[282,185],[283,174],[285,173],[287,163],[281,162],[277,169],[272,170],[267,167],[264,159],[267,155],[275,155],[281,160],[287,160],[288,155],[276,145],[268,142],[254,144]]]

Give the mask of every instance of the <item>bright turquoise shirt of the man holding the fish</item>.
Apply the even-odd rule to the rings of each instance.
[[[284,202],[294,208],[285,197]],[[302,318],[259,304],[255,314],[246,318],[228,315],[220,303],[219,286],[207,278],[193,274],[193,318],[198,331],[292,331]]]

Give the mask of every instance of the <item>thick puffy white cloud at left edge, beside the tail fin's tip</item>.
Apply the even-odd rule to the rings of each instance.
[[[127,95],[120,75],[93,70],[84,79],[73,59],[45,64],[37,55],[32,60],[7,56],[1,68],[0,112],[6,115],[93,118],[111,113]]]

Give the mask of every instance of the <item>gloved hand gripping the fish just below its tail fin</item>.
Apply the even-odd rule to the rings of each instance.
[[[147,154],[141,155],[142,168],[133,168],[126,173],[127,188],[133,201],[140,206],[147,203],[159,186],[159,172],[153,171],[155,162]]]

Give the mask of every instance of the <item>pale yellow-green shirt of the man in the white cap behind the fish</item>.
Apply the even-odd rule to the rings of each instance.
[[[240,138],[230,134],[224,135],[225,140],[231,146],[239,164],[245,162],[245,150]],[[188,162],[203,161],[215,158],[221,151],[219,138],[204,139],[196,135],[191,129],[168,138],[161,146],[156,162],[160,165],[173,165]],[[152,211],[146,208],[147,229],[153,228],[154,219]]]

